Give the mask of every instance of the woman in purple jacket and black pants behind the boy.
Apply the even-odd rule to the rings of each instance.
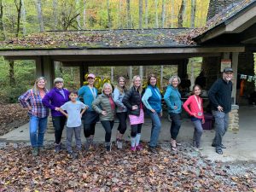
[[[61,78],[56,78],[54,84],[55,88],[44,96],[43,103],[45,107],[51,109],[52,122],[55,127],[55,153],[59,153],[61,151],[62,131],[67,119],[60,112],[60,107],[68,102],[69,91],[63,88],[64,80]]]

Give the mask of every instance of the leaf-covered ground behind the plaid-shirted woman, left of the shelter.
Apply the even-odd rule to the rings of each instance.
[[[27,109],[20,104],[0,104],[0,136],[28,122]]]

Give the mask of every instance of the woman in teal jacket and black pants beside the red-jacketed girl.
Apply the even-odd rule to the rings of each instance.
[[[168,107],[168,113],[170,114],[170,118],[172,119],[171,125],[171,145],[172,150],[177,150],[177,134],[179,128],[181,126],[181,112],[182,112],[182,101],[181,95],[177,89],[178,84],[180,84],[180,78],[177,75],[173,75],[171,79],[169,79],[169,85],[166,90],[166,94],[164,96],[166,105]]]

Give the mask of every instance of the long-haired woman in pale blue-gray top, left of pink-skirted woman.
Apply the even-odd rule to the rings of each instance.
[[[127,91],[125,87],[125,78],[119,77],[118,79],[118,85],[113,90],[113,102],[116,105],[116,116],[119,119],[119,127],[117,131],[116,136],[116,145],[117,148],[123,148],[123,135],[126,131],[126,119],[127,119],[127,108],[125,107],[123,101],[123,98],[125,96],[125,92]]]

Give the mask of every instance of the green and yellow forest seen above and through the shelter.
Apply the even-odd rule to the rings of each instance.
[[[148,29],[201,27],[207,21],[210,0],[0,0],[0,38],[8,40],[31,33],[68,30]],[[163,66],[163,84],[177,66]],[[159,66],[144,67],[160,76]],[[140,68],[132,67],[133,74]],[[91,73],[109,78],[111,67],[90,67]],[[189,60],[188,74],[194,79],[201,71],[201,58]],[[118,72],[118,73],[117,73]],[[114,67],[118,75],[127,74],[126,67]],[[62,77],[67,88],[79,89],[79,68],[55,63],[55,77]],[[4,61],[0,58],[0,102],[17,102],[22,92],[32,87],[34,61]]]

